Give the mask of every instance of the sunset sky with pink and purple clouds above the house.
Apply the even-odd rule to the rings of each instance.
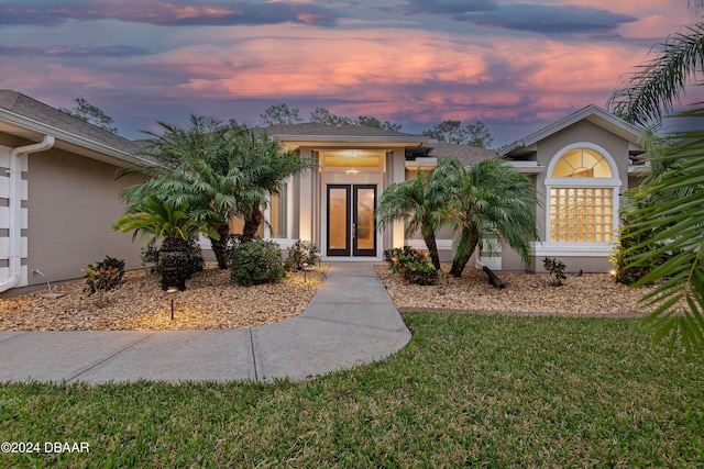
[[[408,133],[481,120],[501,147],[605,107],[693,22],[686,0],[0,0],[0,88],[84,98],[128,138],[286,103]]]

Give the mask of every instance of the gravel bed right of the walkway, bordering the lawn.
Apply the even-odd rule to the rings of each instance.
[[[488,284],[481,270],[466,268],[462,278],[443,275],[438,284],[408,284],[387,265],[376,272],[400,311],[474,311],[503,313],[547,313],[568,315],[642,315],[651,310],[638,304],[649,288],[631,289],[607,273],[569,276],[561,287],[552,287],[547,275],[497,272],[505,289]]]

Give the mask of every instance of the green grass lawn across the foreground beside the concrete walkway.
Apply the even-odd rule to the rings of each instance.
[[[704,467],[704,360],[634,319],[406,315],[387,360],[294,383],[0,386],[0,467]]]

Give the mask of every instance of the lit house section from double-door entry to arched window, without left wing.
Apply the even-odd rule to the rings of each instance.
[[[266,214],[266,236],[288,246],[312,239],[324,259],[380,260],[388,247],[426,248],[420,236],[405,237],[404,223],[383,233],[374,228],[373,208],[393,183],[431,169],[440,158],[470,166],[503,158],[536,186],[540,241],[531,244],[534,260],[525,265],[507,246],[475,255],[476,266],[505,271],[541,271],[544,257],[558,257],[569,271],[608,271],[607,256],[618,228],[623,193],[638,183],[632,164],[642,154],[639,131],[605,110],[588,105],[496,152],[431,142],[356,125],[293,124],[266,132],[318,170],[294,178]],[[452,258],[452,232],[438,234],[443,261]]]

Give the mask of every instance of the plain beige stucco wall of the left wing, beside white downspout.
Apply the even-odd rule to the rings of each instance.
[[[141,238],[113,231],[124,213],[122,188],[135,178],[114,180],[118,168],[59,149],[29,156],[28,235],[29,284],[81,277],[81,269],[106,255],[125,260],[125,268],[142,267]]]

